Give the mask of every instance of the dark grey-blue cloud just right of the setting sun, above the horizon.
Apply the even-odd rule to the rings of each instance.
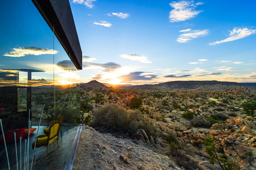
[[[117,78],[121,78],[125,81],[133,81],[133,80],[152,80],[156,77],[157,76],[151,74],[151,72],[136,71],[136,72],[129,73],[128,75],[122,75]]]

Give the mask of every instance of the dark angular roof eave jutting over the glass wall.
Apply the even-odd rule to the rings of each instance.
[[[32,0],[78,70],[82,70],[82,50],[69,0]]]

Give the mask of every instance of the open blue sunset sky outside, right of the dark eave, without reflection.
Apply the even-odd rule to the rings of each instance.
[[[256,82],[255,1],[69,2],[81,82]]]

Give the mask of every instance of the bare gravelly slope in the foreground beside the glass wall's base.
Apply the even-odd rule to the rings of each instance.
[[[161,153],[163,149],[101,134],[83,126],[73,170],[184,170]]]

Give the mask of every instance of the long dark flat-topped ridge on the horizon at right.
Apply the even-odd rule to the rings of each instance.
[[[187,89],[192,89],[192,88],[197,88],[202,85],[237,85],[241,86],[241,84],[236,83],[236,82],[227,82],[227,81],[169,81],[165,83],[160,83],[157,85],[150,85],[147,88],[187,88]]]

